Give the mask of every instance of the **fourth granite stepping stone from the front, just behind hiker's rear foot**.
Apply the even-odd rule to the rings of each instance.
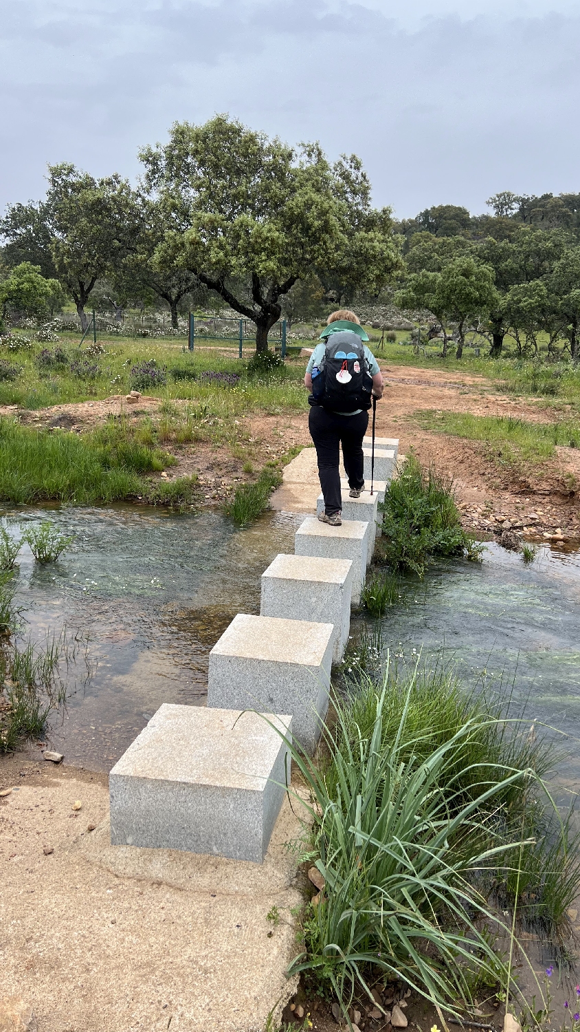
[[[342,526],[329,526],[310,516],[296,531],[294,549],[297,555],[352,559],[352,603],[357,606],[367,575],[369,537],[370,523],[366,520],[344,520]]]

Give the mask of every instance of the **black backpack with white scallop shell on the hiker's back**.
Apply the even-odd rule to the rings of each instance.
[[[361,337],[350,329],[333,333],[325,357],[312,369],[310,405],[321,405],[331,412],[354,412],[370,409],[373,378],[369,373]]]

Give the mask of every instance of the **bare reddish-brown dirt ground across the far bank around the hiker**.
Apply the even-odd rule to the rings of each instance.
[[[402,453],[412,447],[422,462],[433,462],[453,477],[467,528],[493,533],[507,521],[526,528],[527,536],[555,542],[580,539],[580,493],[574,486],[580,483],[580,451],[556,448],[549,463],[514,470],[494,462],[488,448],[479,442],[429,432],[409,418],[414,412],[431,409],[553,422],[553,411],[545,408],[541,399],[506,397],[497,392],[490,380],[480,376],[385,363],[381,369],[386,389],[377,406],[377,433],[399,438]],[[174,404],[179,407],[186,402]],[[156,417],[160,406],[160,399],[146,396],[138,405],[129,406],[124,396],[114,395],[102,401],[59,405],[38,412],[8,406],[0,408],[0,416],[18,414],[29,425],[50,426],[67,414],[74,421],[70,428],[82,432],[109,415],[125,413],[130,420],[143,415]],[[242,448],[236,457],[229,449],[210,442],[168,446],[177,459],[168,471],[169,477],[197,474],[204,504],[215,505],[238,483],[252,479],[251,473],[243,472],[244,459],[249,458],[258,470],[268,458],[311,443],[307,412],[250,414],[241,417],[237,425]]]

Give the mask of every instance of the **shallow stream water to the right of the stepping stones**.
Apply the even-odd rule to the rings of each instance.
[[[382,651],[412,669],[453,663],[468,684],[511,692],[513,713],[554,729],[570,750],[558,781],[580,780],[580,550],[541,546],[534,563],[493,542],[483,561],[448,560],[408,577],[378,621]],[[362,618],[353,621],[360,632]],[[365,621],[376,626],[377,621]]]

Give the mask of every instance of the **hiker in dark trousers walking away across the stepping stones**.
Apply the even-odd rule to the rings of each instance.
[[[363,438],[369,423],[371,397],[382,397],[383,382],[377,360],[363,343],[368,341],[361,320],[340,309],[327,320],[321,344],[314,348],[304,383],[311,391],[308,428],[316,448],[325,511],[318,519],[341,526],[342,495],[339,461],[342,445],[349,494],[365,489]]]

